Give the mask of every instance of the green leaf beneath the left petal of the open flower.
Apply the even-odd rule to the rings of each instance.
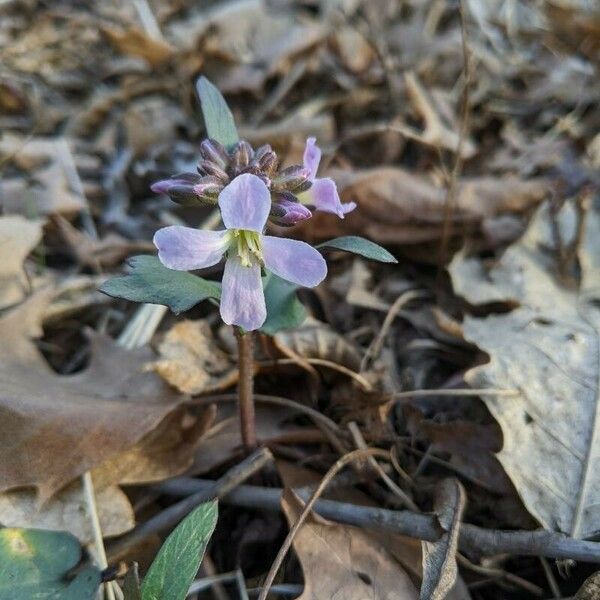
[[[105,281],[100,291],[132,302],[164,304],[175,314],[189,310],[206,298],[220,298],[221,286],[186,273],[167,269],[156,256],[134,256],[124,277]]]

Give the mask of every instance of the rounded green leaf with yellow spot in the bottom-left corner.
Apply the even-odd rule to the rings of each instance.
[[[83,556],[77,538],[61,531],[0,529],[0,600],[93,600],[100,571],[68,573]]]

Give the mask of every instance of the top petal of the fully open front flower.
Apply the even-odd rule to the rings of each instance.
[[[256,175],[238,175],[219,194],[221,217],[227,229],[248,229],[262,232],[269,210],[269,188]]]

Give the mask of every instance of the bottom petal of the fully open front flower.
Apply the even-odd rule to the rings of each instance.
[[[225,263],[221,291],[221,317],[228,325],[246,331],[258,329],[267,318],[260,266],[244,267],[237,256]]]

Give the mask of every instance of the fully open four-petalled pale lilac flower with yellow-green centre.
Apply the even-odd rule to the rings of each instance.
[[[271,195],[256,175],[238,175],[219,194],[223,231],[171,226],[154,235],[158,258],[177,271],[217,264],[226,255],[221,292],[221,317],[228,325],[251,331],[267,317],[261,267],[278,277],[315,287],[327,274],[321,254],[305,242],[264,235]]]

